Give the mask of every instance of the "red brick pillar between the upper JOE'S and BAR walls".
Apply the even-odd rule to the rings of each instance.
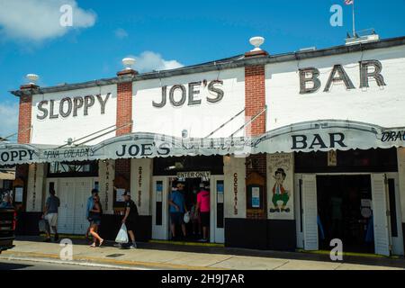
[[[245,67],[245,117],[246,121],[262,112],[266,106],[266,76],[265,66]],[[263,112],[246,128],[247,136],[257,136],[266,132],[266,112]],[[266,154],[251,155],[246,159],[247,163],[252,162],[253,168],[247,166],[246,175],[257,172],[266,179]],[[265,209],[247,212],[248,219],[267,218],[267,191],[265,183],[264,202]]]

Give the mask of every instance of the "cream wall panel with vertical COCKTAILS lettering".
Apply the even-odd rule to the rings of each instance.
[[[246,218],[246,158],[223,157],[225,218]],[[236,181],[235,181],[236,180]],[[237,185],[235,194],[235,185]],[[235,199],[237,198],[237,200]]]

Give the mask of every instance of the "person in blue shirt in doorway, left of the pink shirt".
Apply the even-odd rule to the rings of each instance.
[[[176,238],[175,229],[177,225],[181,225],[183,236],[184,238],[186,237],[184,212],[187,212],[187,207],[185,207],[183,189],[183,184],[175,183],[172,193],[170,193],[170,229],[172,231],[172,238],[174,239]]]

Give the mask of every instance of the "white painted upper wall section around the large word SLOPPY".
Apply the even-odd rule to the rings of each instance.
[[[84,116],[83,108],[81,108],[78,110],[76,117],[73,117],[71,114],[67,118],[62,118],[59,115],[58,119],[49,119],[49,117],[44,120],[37,119],[37,114],[42,115],[42,112],[38,110],[38,103],[40,103],[40,101],[55,100],[55,106],[58,107],[59,101],[65,97],[73,98],[76,96],[84,97],[85,95],[89,94],[102,94],[104,98],[104,95],[107,93],[111,93],[111,96],[105,104],[104,114],[101,114],[100,105],[97,99],[95,99],[95,103],[89,108],[87,116]],[[49,104],[47,107],[49,108]],[[115,125],[116,110],[116,85],[104,85],[101,87],[92,87],[58,93],[35,94],[32,97],[31,143],[63,145],[68,138],[79,139],[85,137],[88,134]],[[115,132],[86,144],[96,144],[103,139],[109,139],[113,136],[115,136]]]

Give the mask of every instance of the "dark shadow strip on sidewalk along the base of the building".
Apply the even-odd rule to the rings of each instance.
[[[63,238],[63,237],[60,237]],[[18,236],[17,241],[31,241],[43,242],[40,236]],[[71,238],[74,245],[89,246],[91,242],[84,238]],[[175,245],[169,243],[151,243],[151,242],[137,242],[138,247],[141,249],[161,250],[161,251],[176,251],[186,253],[202,253],[202,254],[221,254],[235,257],[267,257],[278,258],[284,260],[304,260],[304,261],[322,261],[333,262],[330,260],[329,255],[311,254],[302,252],[284,252],[284,251],[270,251],[270,250],[255,250],[247,248],[236,247],[203,247],[203,246],[189,246],[189,245]],[[45,243],[44,243],[45,244]],[[105,241],[105,247],[113,247],[115,242]],[[128,248],[118,248],[119,251],[125,251]],[[405,259],[403,257],[394,259],[388,257],[368,257],[368,256],[345,256],[344,261],[341,263],[365,265],[365,266],[387,266],[405,269]]]

